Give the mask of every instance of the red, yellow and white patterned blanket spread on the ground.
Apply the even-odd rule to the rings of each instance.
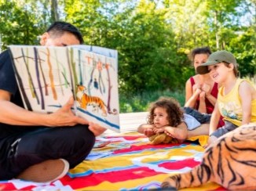
[[[189,171],[199,164],[203,150],[198,142],[153,146],[144,135],[134,133],[99,137],[90,156],[82,164],[71,169],[64,178],[48,184],[13,179],[0,182],[0,189],[157,189],[167,175]],[[216,189],[221,187],[215,183],[207,183],[196,188],[196,190]]]

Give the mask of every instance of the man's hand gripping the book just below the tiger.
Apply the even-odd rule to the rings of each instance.
[[[73,114],[71,107],[74,105],[74,99],[71,97],[64,106],[53,114],[49,114],[47,124],[50,127],[74,126],[75,124],[89,124],[89,121]]]

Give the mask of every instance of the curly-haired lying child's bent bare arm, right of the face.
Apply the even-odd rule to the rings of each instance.
[[[182,140],[182,142],[188,137],[188,128],[185,122],[181,122],[177,127],[166,126],[164,132],[166,135]]]

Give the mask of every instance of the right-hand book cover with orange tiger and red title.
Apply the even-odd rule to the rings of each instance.
[[[78,115],[119,132],[117,52],[97,48],[95,53],[84,49],[85,45],[79,47],[68,48]],[[106,56],[108,52],[115,56]]]

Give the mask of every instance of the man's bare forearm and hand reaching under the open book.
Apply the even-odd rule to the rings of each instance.
[[[53,114],[39,114],[25,110],[10,102],[11,94],[0,89],[0,122],[13,125],[43,125],[48,127],[73,126],[88,124],[88,121],[76,117],[71,111],[74,100],[70,99],[63,107]]]

